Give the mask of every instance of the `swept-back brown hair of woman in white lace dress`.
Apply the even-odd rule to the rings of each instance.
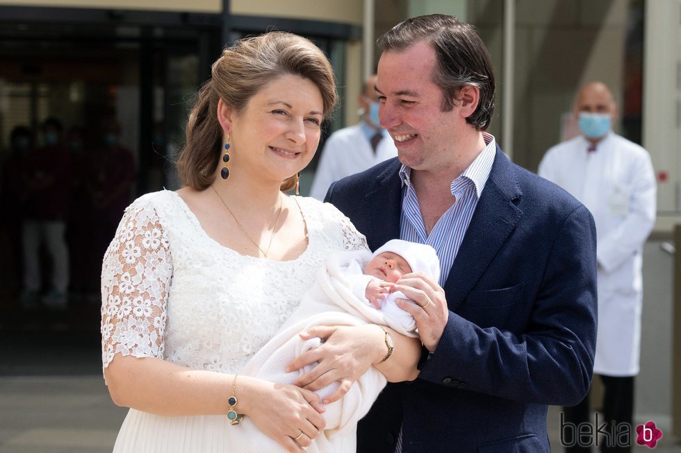
[[[311,80],[320,90],[324,117],[336,105],[334,72],[326,55],[310,40],[272,31],[238,40],[224,49],[213,63],[211,80],[195,96],[186,130],[186,145],[177,159],[181,181],[196,190],[213,183],[222,153],[222,127],[218,122],[218,101],[243,112],[248,101],[272,80],[293,74]],[[293,177],[281,185],[290,190]]]

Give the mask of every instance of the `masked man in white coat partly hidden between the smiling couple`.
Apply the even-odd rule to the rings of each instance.
[[[376,75],[364,83],[359,95],[362,119],[359,124],[336,130],[324,145],[310,196],[323,200],[331,185],[345,176],[364,171],[395,157],[397,148],[384,128],[379,126]]]

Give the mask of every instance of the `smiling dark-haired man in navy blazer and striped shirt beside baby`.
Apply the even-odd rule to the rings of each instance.
[[[379,38],[381,126],[399,160],[336,182],[327,200],[375,249],[435,248],[442,275],[395,289],[414,302],[420,375],[389,385],[358,427],[358,452],[548,452],[548,404],[576,404],[596,347],[596,232],[589,211],[512,164],[484,130],[494,74],[455,17]]]

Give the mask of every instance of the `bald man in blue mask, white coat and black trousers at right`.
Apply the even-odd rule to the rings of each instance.
[[[612,132],[617,105],[605,84],[584,85],[574,112],[582,135],[550,148],[539,175],[573,194],[596,221],[598,343],[593,371],[605,386],[602,421],[631,425],[641,339],[641,251],[655,223],[655,172],[645,149]],[[568,422],[588,422],[589,398],[565,412]],[[603,451],[615,451],[601,445]],[[589,448],[577,445],[570,451]]]

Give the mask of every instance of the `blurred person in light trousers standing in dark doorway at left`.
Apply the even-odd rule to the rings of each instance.
[[[22,194],[22,247],[24,250],[24,308],[35,305],[48,284],[42,302],[47,307],[63,309],[69,288],[69,250],[65,230],[69,212],[71,160],[63,144],[63,126],[55,117],[42,123],[42,145],[28,151],[19,170]],[[50,266],[41,263],[40,246],[44,244]],[[49,279],[42,269],[49,268]]]

